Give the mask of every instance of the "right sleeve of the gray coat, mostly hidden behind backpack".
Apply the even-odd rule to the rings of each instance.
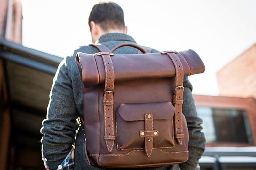
[[[198,168],[198,161],[204,153],[205,137],[204,133],[201,132],[203,121],[197,116],[195,101],[192,95],[192,85],[188,77],[184,79],[183,100],[182,112],[186,117],[189,133],[189,158],[186,162],[179,164],[179,167],[181,170],[195,170]]]

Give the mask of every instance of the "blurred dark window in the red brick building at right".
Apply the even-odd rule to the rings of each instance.
[[[206,141],[252,143],[252,135],[245,110],[197,107],[203,119]]]

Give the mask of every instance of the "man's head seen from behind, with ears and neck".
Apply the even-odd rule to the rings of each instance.
[[[127,33],[123,9],[114,2],[95,4],[90,13],[88,24],[93,43],[105,33]]]

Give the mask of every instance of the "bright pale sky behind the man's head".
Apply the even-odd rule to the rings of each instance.
[[[192,49],[206,71],[189,76],[193,94],[218,95],[216,72],[256,43],[256,0],[113,0],[128,34],[159,51]],[[88,16],[95,0],[22,0],[22,44],[73,55],[91,43]],[[232,75],[229,75],[232,76]]]

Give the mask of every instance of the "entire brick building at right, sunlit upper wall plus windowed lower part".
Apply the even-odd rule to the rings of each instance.
[[[194,95],[207,146],[256,146],[256,44],[217,72],[219,96]]]

